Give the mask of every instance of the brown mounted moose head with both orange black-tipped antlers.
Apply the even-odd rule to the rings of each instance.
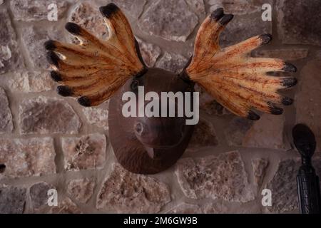
[[[54,71],[51,78],[62,84],[59,95],[78,97],[83,106],[109,103],[109,135],[118,162],[131,172],[161,172],[183,154],[193,134],[189,117],[124,117],[123,93],[193,92],[195,83],[235,115],[250,120],[260,116],[253,111],[279,115],[292,99],[277,93],[297,81],[292,77],[268,76],[270,71],[295,72],[290,63],[277,58],[251,58],[250,51],[269,43],[263,34],[220,48],[218,37],[233,19],[216,9],[201,24],[188,65],[179,74],[160,68],[148,68],[141,57],[126,16],[115,4],[100,7],[108,28],[108,39],[101,40],[77,24],[67,23],[66,30],[80,44],[47,41],[47,58]],[[193,100],[193,98],[192,98]],[[192,102],[193,103],[193,102]],[[176,103],[175,105],[180,105]],[[195,108],[195,107],[194,107]],[[138,112],[139,107],[137,107]],[[161,110],[160,110],[161,111]]]

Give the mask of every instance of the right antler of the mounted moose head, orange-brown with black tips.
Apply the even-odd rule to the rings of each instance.
[[[253,108],[263,113],[282,114],[282,108],[275,104],[290,105],[293,100],[278,94],[277,90],[295,86],[297,80],[267,76],[267,72],[295,72],[295,66],[277,58],[250,57],[250,51],[270,42],[269,34],[220,48],[220,32],[232,19],[233,15],[224,14],[222,8],[205,19],[196,36],[193,58],[181,75],[198,83],[235,115],[258,120],[260,116]]]

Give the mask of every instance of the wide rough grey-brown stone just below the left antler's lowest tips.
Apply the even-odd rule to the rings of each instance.
[[[56,98],[25,99],[19,107],[22,134],[78,133],[81,122],[66,100]]]

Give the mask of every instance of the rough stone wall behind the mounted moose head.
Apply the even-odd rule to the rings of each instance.
[[[114,0],[131,21],[148,66],[178,72],[193,53],[195,33],[218,6],[235,14],[223,46],[260,33],[273,41],[253,56],[297,66],[295,97],[283,115],[252,122],[201,94],[201,120],[178,163],[157,175],[135,175],[116,162],[108,140],[108,103],[82,108],[56,95],[43,43],[72,41],[75,21],[106,36],[95,1],[0,1],[0,213],[159,212],[296,213],[300,165],[291,129],[307,123],[321,146],[321,2],[319,0]],[[48,21],[56,3],[58,21]],[[261,6],[272,5],[272,21]],[[320,155],[320,153],[318,153]],[[314,164],[321,175],[321,159]],[[49,207],[47,191],[58,191]],[[272,191],[272,207],[261,204]]]

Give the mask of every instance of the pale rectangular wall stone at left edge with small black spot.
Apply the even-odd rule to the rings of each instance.
[[[0,164],[5,177],[42,176],[56,173],[52,138],[0,139]]]

